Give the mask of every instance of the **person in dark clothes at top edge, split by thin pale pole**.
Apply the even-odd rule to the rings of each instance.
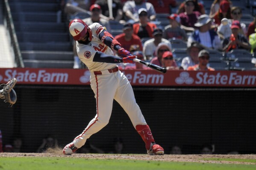
[[[124,21],[122,21],[123,5],[120,0],[112,0],[112,18],[109,16],[108,0],[96,0],[95,4],[98,4],[101,7],[102,14],[106,17],[109,17],[111,20],[124,23]]]

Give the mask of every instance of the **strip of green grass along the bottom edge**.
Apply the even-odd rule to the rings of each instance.
[[[255,170],[256,165],[68,157],[0,157],[0,170]]]

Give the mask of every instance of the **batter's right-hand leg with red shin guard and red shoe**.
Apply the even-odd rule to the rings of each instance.
[[[147,153],[150,155],[163,155],[164,149],[155,143],[150,127],[147,125],[144,116],[141,113],[141,109],[136,103],[132,86],[125,75],[123,73],[120,74],[121,79],[115,95],[115,100],[121,105],[121,107],[123,107],[124,111],[127,112],[133,126],[145,142]]]

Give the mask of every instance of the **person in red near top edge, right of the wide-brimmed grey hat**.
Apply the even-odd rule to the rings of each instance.
[[[220,8],[213,17],[215,24],[218,26],[221,25],[221,20],[223,18],[232,19],[230,3],[227,0],[221,1]]]

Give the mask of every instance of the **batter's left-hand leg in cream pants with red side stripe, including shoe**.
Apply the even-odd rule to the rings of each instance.
[[[91,88],[96,98],[97,114],[90,121],[85,130],[63,149],[65,155],[74,153],[74,151],[85,144],[86,140],[90,138],[91,135],[97,133],[109,123],[113,98],[117,88],[115,76],[97,76],[95,79],[91,80]]]

